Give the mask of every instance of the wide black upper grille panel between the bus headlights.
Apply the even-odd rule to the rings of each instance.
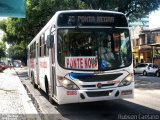
[[[99,82],[99,81],[111,81],[115,80],[119,76],[121,76],[123,73],[117,73],[117,74],[107,74],[107,75],[94,75],[90,77],[80,78],[80,81],[83,82]]]

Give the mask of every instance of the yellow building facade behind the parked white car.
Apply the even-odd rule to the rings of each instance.
[[[160,66],[160,28],[137,26],[131,34],[134,65],[150,62]]]

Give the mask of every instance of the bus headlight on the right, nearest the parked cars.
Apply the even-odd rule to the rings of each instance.
[[[118,87],[130,85],[132,82],[133,82],[133,75],[132,75],[132,74],[129,74],[127,77],[125,77],[125,79],[123,79],[123,80],[119,83]]]

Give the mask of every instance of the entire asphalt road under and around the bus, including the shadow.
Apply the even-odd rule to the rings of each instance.
[[[39,89],[34,89],[24,68],[16,69],[42,119],[52,120],[129,120],[160,119],[160,78],[135,76],[135,98],[91,103],[53,105]],[[152,84],[152,85],[151,85]],[[158,85],[157,85],[158,84]],[[158,103],[159,102],[159,103]]]

